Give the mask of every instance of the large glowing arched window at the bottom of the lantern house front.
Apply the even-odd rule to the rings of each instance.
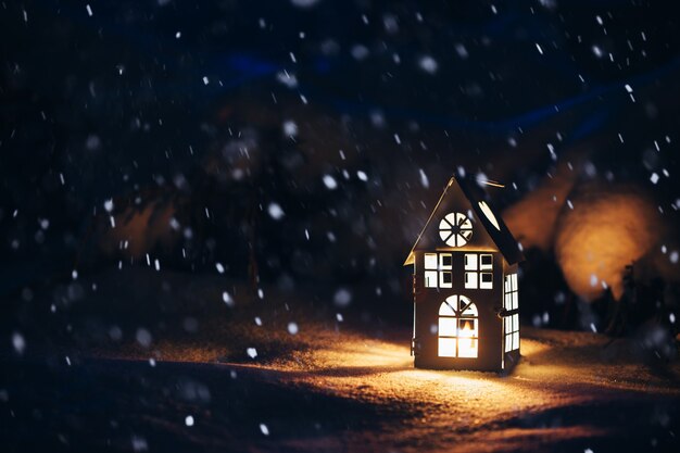
[[[439,306],[439,356],[477,357],[479,314],[465,295],[451,295]]]

